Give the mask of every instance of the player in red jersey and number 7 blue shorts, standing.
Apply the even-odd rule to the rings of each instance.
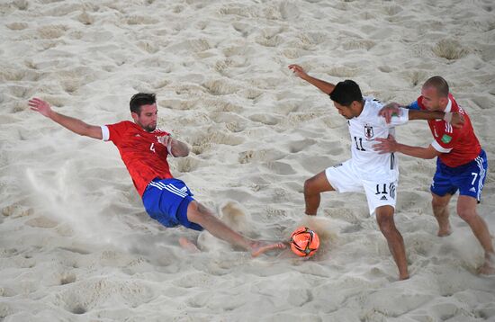
[[[384,107],[381,115],[390,120],[393,112],[399,112],[398,103]],[[481,201],[483,183],[488,171],[485,151],[474,134],[473,125],[467,113],[455,102],[449,93],[446,80],[441,76],[429,78],[421,89],[421,96],[408,108],[446,112],[446,121],[428,120],[434,140],[428,148],[410,147],[398,143],[393,137],[377,139],[381,143],[374,146],[381,153],[401,152],[411,157],[430,159],[437,157],[437,172],[433,177],[433,213],[438,221],[438,236],[452,233],[449,223],[448,203],[459,191],[457,214],[473,230],[485,252],[485,260],[480,273],[495,273],[495,253],[490,231],[485,221],[476,212],[476,204]],[[464,115],[464,126],[453,128],[448,121],[449,112]]]

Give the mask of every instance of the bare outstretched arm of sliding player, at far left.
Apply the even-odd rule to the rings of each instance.
[[[103,139],[102,128],[99,126],[90,125],[84,121],[55,112],[51,109],[49,103],[39,98],[32,98],[29,101],[29,106],[32,111],[40,112],[41,115],[46,116],[50,120],[57,122],[64,128],[71,130],[76,134],[94,139]]]

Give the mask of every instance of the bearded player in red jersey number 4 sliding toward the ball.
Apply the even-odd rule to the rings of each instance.
[[[76,134],[112,141],[119,149],[146,211],[162,225],[182,225],[194,230],[204,228],[215,237],[243,247],[253,256],[285,247],[284,243],[262,242],[238,234],[195,201],[185,183],[170,174],[166,157],[186,157],[189,148],[183,142],[172,139],[169,133],[157,130],[155,94],[139,93],[131,97],[130,115],[134,122],[121,121],[103,126],[89,125],[54,112],[49,103],[39,98],[31,99],[29,106]],[[185,238],[181,238],[180,242],[185,247],[195,247]]]

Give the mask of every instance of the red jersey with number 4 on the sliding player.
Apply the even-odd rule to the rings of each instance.
[[[119,149],[122,161],[141,197],[151,180],[173,178],[166,161],[168,151],[157,141],[157,138],[168,135],[167,132],[147,132],[131,121],[106,125],[102,127],[102,131],[103,139],[111,140]]]

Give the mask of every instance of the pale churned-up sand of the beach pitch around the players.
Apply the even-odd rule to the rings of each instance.
[[[495,165],[495,4],[412,1],[0,1],[0,321],[495,320],[495,277],[455,215],[436,237],[434,160],[401,156],[396,214],[411,278],[397,282],[364,194],[327,193],[303,215],[302,184],[350,157],[346,121],[287,69],[354,79],[410,103],[446,77]],[[138,91],[192,148],[170,160],[198,201],[249,237],[320,233],[311,260],[247,253],[148,218],[112,143],[28,109],[38,96],[90,124],[130,120]],[[397,130],[427,146],[426,122]],[[479,213],[495,231],[495,167]]]

